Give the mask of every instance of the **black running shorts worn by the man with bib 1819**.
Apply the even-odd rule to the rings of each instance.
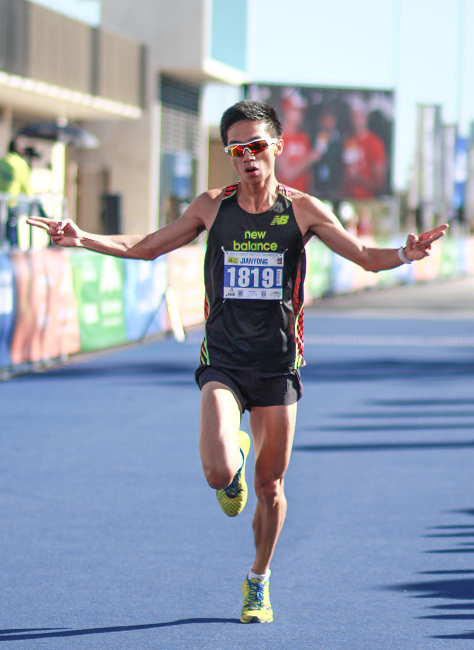
[[[209,382],[219,382],[229,387],[240,403],[242,413],[254,406],[290,406],[303,395],[303,383],[298,371],[295,374],[263,376],[255,370],[200,365],[194,376],[201,389]]]

